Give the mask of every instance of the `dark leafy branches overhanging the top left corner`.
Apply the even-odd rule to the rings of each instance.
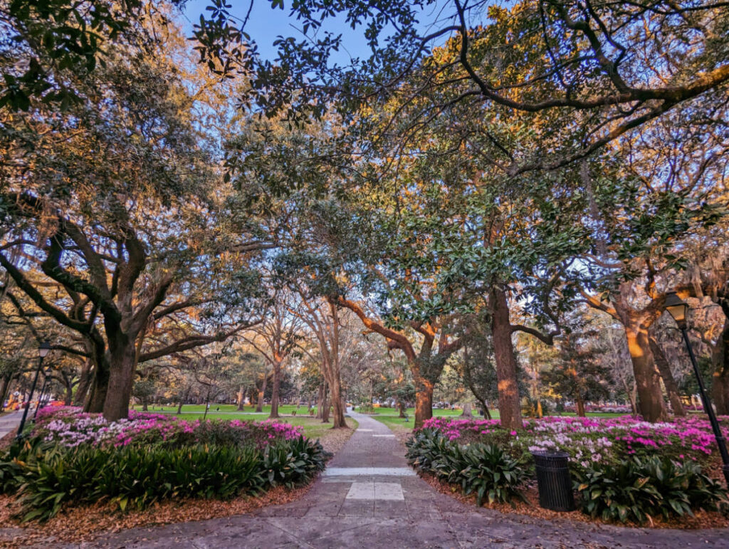
[[[106,66],[119,44],[152,52],[156,31],[165,26],[168,7],[179,1],[14,0],[0,6],[0,51],[17,58],[1,68],[0,108],[28,111],[37,101],[66,109],[83,93],[70,69],[91,74]]]

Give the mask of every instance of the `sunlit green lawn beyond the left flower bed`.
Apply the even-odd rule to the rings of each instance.
[[[177,407],[176,406],[158,406],[155,405],[154,409],[152,409],[152,406],[149,406],[149,413],[163,413],[165,415],[170,416],[176,416],[182,419],[201,419],[203,418],[205,414],[205,405],[184,405],[182,406],[182,414],[179,416],[176,415],[177,413]],[[216,408],[219,408],[219,410],[216,410]],[[254,411],[254,407],[246,406],[245,412],[239,412],[237,410],[237,406],[233,404],[211,404],[210,410],[208,410],[208,415],[206,416],[208,419],[243,419],[243,420],[252,420],[252,421],[265,421],[268,419],[268,413],[270,413],[270,405],[264,406],[263,411],[265,412],[265,415],[262,415],[260,413],[252,413]],[[136,406],[136,410],[141,410],[141,407]],[[297,416],[291,416],[291,413],[293,411],[297,411]],[[330,429],[332,429],[332,423],[321,423],[321,419],[312,418],[306,414],[306,407],[301,406],[298,410],[296,410],[296,405],[281,405],[278,407],[278,413],[281,414],[280,419],[278,421],[281,421],[282,423],[287,423],[290,425],[298,425],[300,427],[304,428],[304,435],[307,438],[324,438]],[[347,418],[347,425],[351,427],[352,429],[356,429],[359,424],[353,419],[353,418]]]

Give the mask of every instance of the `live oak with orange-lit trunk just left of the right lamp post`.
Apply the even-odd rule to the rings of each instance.
[[[600,174],[582,163],[589,204],[581,224],[591,248],[578,277],[582,296],[623,324],[648,421],[666,416],[650,327],[663,314],[666,292],[695,295],[682,273],[690,260],[684,243],[725,215],[720,181],[729,141],[714,130],[725,118],[721,105],[712,112],[677,109],[615,147]]]

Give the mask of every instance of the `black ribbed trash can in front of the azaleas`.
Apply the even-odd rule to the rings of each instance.
[[[531,455],[537,464],[539,507],[553,511],[574,511],[569,453],[538,451]]]

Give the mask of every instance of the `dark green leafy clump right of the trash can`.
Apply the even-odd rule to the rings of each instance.
[[[703,475],[694,462],[634,457],[617,465],[593,464],[574,474],[582,512],[604,521],[644,523],[650,516],[717,510],[726,502],[720,483]]]

